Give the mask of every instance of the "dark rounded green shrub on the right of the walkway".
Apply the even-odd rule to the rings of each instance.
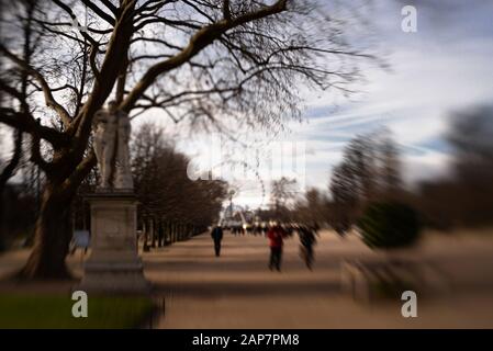
[[[382,249],[412,246],[421,231],[417,212],[400,203],[370,204],[358,226],[366,245]]]

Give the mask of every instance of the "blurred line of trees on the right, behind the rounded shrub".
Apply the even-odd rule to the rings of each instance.
[[[459,111],[449,121],[442,136],[452,159],[447,176],[422,181],[413,191],[403,186],[400,149],[390,132],[380,129],[348,143],[328,192],[311,189],[296,199],[295,182],[282,179],[273,183],[273,205],[266,213],[281,220],[332,225],[343,233],[370,204],[397,202],[418,211],[433,228],[492,225],[493,107]]]

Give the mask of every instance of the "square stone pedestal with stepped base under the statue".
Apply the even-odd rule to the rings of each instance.
[[[91,206],[91,254],[78,290],[143,294],[150,291],[137,254],[137,201],[131,192],[87,196]]]

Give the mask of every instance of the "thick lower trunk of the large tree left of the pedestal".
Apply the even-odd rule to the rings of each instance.
[[[69,279],[65,263],[71,239],[70,204],[72,194],[60,193],[61,186],[47,184],[34,231],[34,247],[21,271],[25,279]]]

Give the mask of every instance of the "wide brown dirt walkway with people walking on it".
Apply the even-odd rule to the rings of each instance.
[[[445,240],[430,239],[413,254],[439,261],[455,274],[457,291],[418,299],[417,318],[403,318],[399,299],[362,305],[343,294],[340,262],[378,254],[356,237],[329,231],[316,247],[313,272],[299,259],[296,239],[287,241],[277,273],[267,269],[265,238],[231,234],[221,258],[204,235],[145,254],[145,272],[166,301],[159,328],[493,327],[493,240]]]

